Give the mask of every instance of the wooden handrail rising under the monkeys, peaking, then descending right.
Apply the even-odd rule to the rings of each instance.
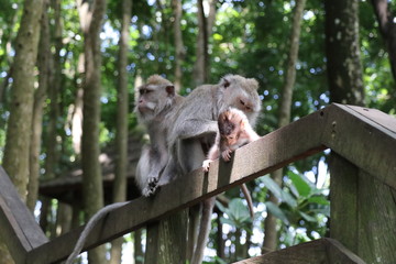
[[[230,163],[215,161],[208,174],[196,169],[163,186],[155,197],[132,200],[110,212],[94,229],[84,250],[326,148],[396,189],[396,119],[377,110],[331,105],[239,148]],[[32,249],[26,263],[64,260],[81,230]]]

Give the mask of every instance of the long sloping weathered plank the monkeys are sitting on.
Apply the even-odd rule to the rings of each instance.
[[[324,146],[320,139],[324,117],[326,114],[316,112],[301,118],[263,136],[254,144],[241,147],[235,152],[232,162],[220,162],[220,168],[219,162],[213,162],[209,174],[204,174],[199,168],[164,186],[153,198],[139,198],[114,210],[94,229],[85,250],[322,151]],[[81,228],[34,249],[29,253],[28,263],[45,264],[65,258],[72,252],[80,232]]]

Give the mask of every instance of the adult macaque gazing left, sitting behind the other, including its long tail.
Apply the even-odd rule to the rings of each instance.
[[[146,84],[139,87],[135,111],[139,122],[146,125],[151,140],[151,144],[143,147],[135,174],[136,184],[143,196],[153,194],[155,189],[153,189],[152,186],[156,186],[158,174],[167,163],[167,125],[169,124],[169,120],[174,119],[170,116],[182,101],[183,97],[175,94],[174,85],[158,75],[148,77]],[[66,264],[73,263],[74,258],[80,253],[88,234],[97,222],[108,212],[125,204],[128,204],[128,201],[106,206],[91,217],[80,234],[73,253],[67,258]]]

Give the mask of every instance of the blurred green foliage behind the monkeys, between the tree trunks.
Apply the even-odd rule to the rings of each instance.
[[[150,75],[161,74],[174,81],[175,65],[182,67],[180,94],[188,95],[197,84],[216,84],[227,74],[254,77],[260,81],[263,111],[257,122],[257,132],[267,134],[277,129],[278,108],[282,87],[285,82],[289,52],[289,35],[296,1],[243,1],[218,0],[202,1],[204,12],[216,10],[211,34],[207,45],[207,76],[199,80],[196,74],[198,7],[200,1],[182,1],[180,23],[183,50],[177,56],[175,43],[175,9],[170,0],[133,1],[132,19],[128,43],[128,91],[130,96],[128,127],[132,135],[140,134],[134,108],[134,88]],[[362,64],[364,105],[395,116],[395,79],[392,75],[389,54],[378,30],[378,22],[371,1],[359,2],[359,43]],[[396,11],[396,2],[388,1],[389,13]],[[0,0],[0,160],[4,155],[7,128],[12,103],[13,65],[15,37],[21,26],[23,1]],[[59,10],[61,16],[56,13]],[[101,150],[110,147],[117,134],[117,95],[119,81],[118,53],[121,30],[122,1],[108,0],[103,26],[100,32],[100,55],[102,65],[100,94]],[[84,33],[76,1],[51,1],[48,13],[51,40],[51,69],[58,70],[58,90],[55,99],[50,85],[43,102],[43,134],[40,151],[40,177],[47,177],[48,141],[55,139],[55,160],[53,176],[68,174],[79,167],[80,153],[74,145],[73,133],[80,125],[74,122],[79,106],[84,76],[80,56],[84,54]],[[296,62],[290,121],[315,112],[330,103],[326,31],[324,2],[307,1],[300,25],[299,54]],[[395,19],[393,20],[395,22]],[[40,50],[40,48],[38,48]],[[41,53],[41,52],[38,52]],[[38,78],[40,70],[35,70]],[[51,77],[55,78],[55,77]],[[36,80],[37,81],[37,80]],[[37,89],[37,82],[35,89]],[[56,101],[55,110],[52,100]],[[54,105],[54,103],[53,103]],[[54,114],[55,111],[55,114]],[[51,124],[55,124],[52,127]],[[53,130],[52,128],[55,128]],[[139,141],[138,141],[139,142]],[[138,143],[136,143],[138,144]],[[51,145],[51,144],[50,144]],[[271,150],[267,150],[271,151]],[[240,190],[233,189],[222,195],[213,213],[210,242],[206,251],[206,263],[230,263],[249,255],[261,254],[265,238],[264,219],[273,213],[277,219],[277,248],[322,238],[328,232],[329,221],[329,175],[328,152],[284,169],[283,185],[279,187],[271,177],[264,176],[249,183],[253,195],[256,217],[249,217]],[[280,204],[267,200],[272,191]],[[43,218],[41,208],[43,197],[38,197],[35,213]],[[50,226],[56,226],[58,202],[50,200],[52,208],[45,217]],[[75,223],[79,224],[79,222]],[[56,231],[47,229],[51,237]],[[145,240],[144,232],[139,237],[125,235],[130,249],[134,240]],[[136,246],[136,243],[134,243]],[[141,244],[142,245],[142,244]],[[140,245],[140,246],[141,246]],[[144,251],[144,246],[142,249]],[[125,253],[127,252],[127,253]],[[124,260],[142,258],[139,249],[134,253],[124,251]],[[138,256],[136,256],[138,255]],[[125,261],[124,263],[132,263]]]

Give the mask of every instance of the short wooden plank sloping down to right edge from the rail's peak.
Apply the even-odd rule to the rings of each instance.
[[[373,109],[332,105],[323,144],[396,189],[395,118]]]

